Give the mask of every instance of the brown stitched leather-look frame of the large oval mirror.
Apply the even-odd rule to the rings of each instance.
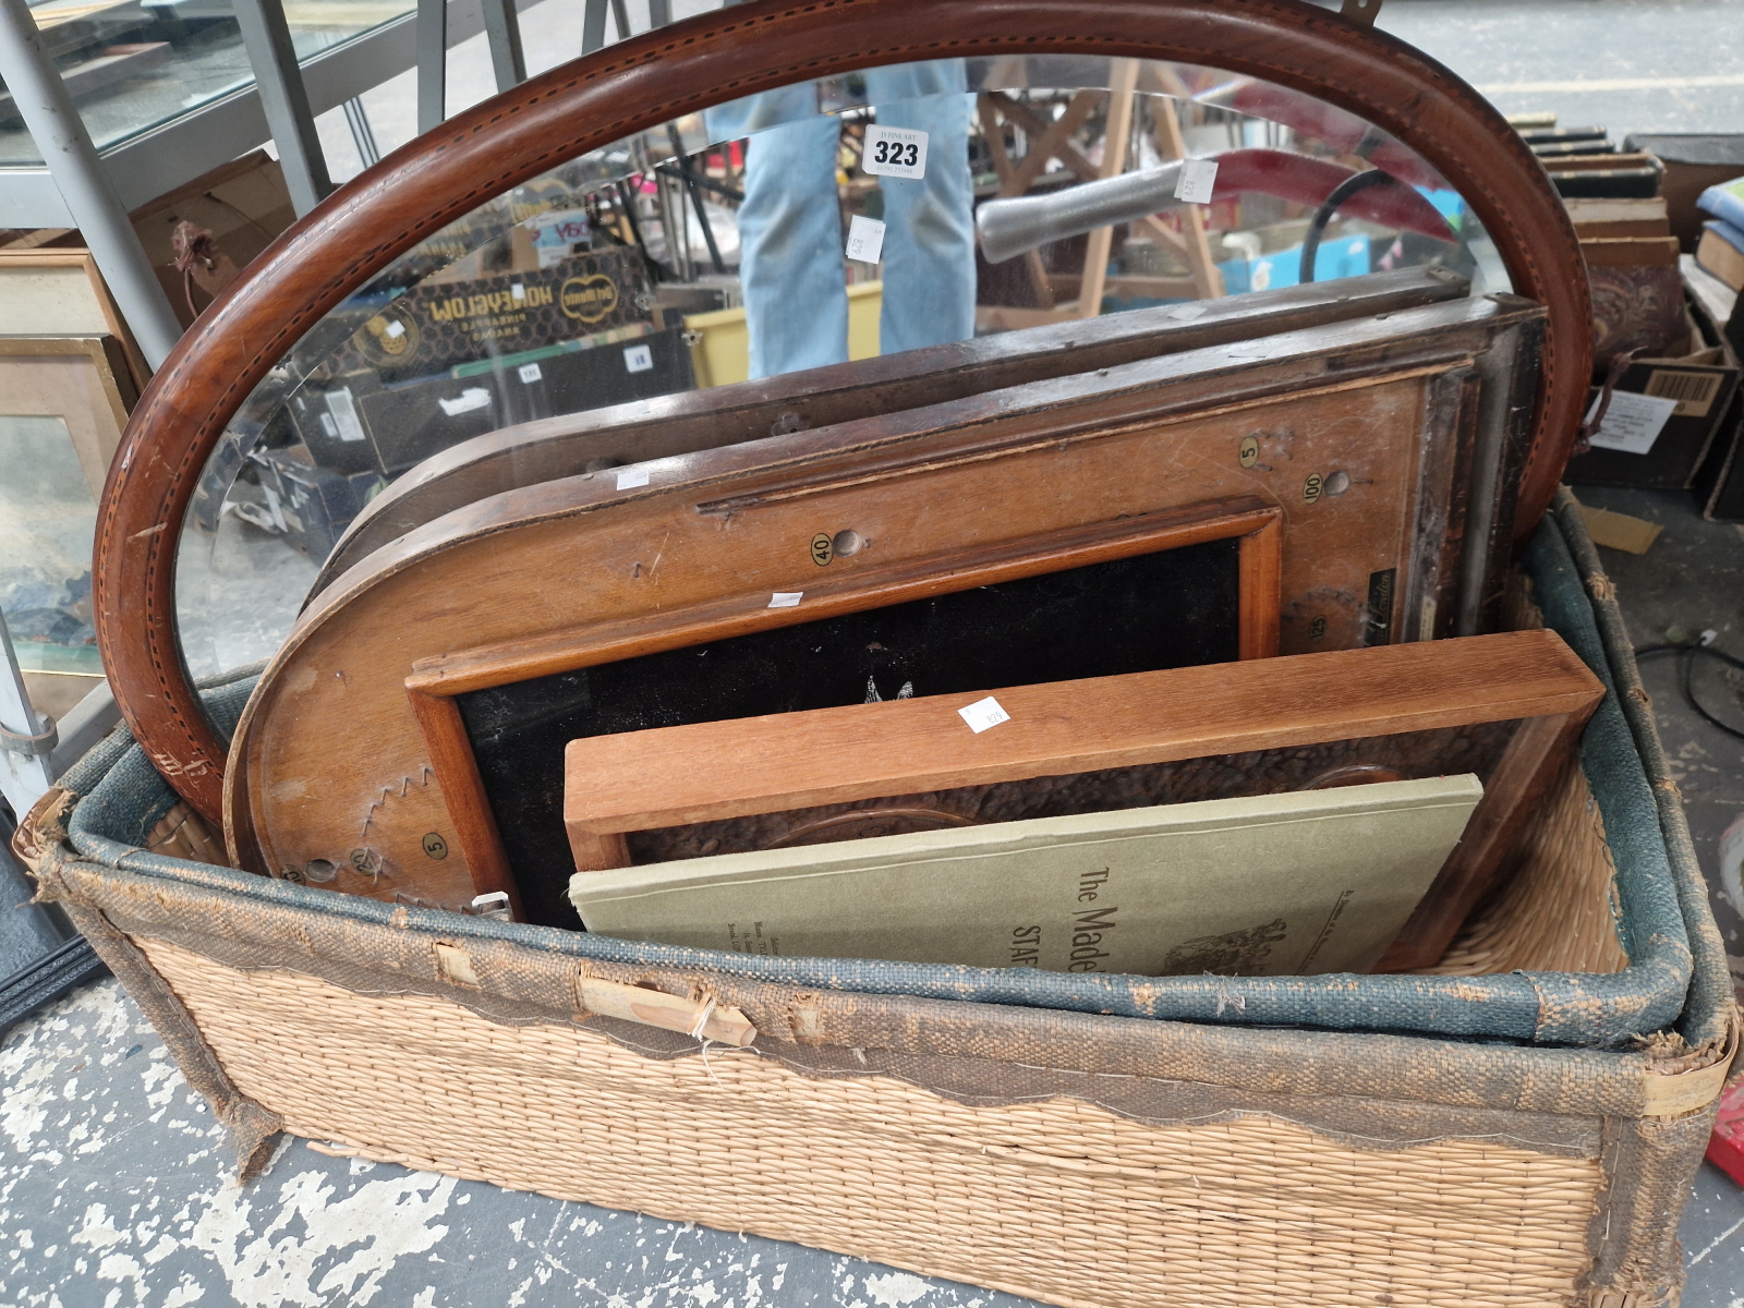
[[[115,699],[159,771],[218,820],[225,748],[181,661],[176,546],[225,424],[323,314],[485,201],[631,133],[802,78],[998,54],[1210,65],[1318,96],[1423,155],[1477,213],[1514,290],[1549,310],[1517,521],[1538,520],[1592,370],[1580,246],[1538,160],[1434,59],[1294,0],[752,0],[555,68],[396,150],[274,241],[181,338],[110,467],[92,581]]]

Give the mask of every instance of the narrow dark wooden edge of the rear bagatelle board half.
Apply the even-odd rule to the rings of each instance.
[[[1467,291],[1467,281],[1444,269],[1400,269],[1001,331],[523,422],[431,455],[370,501],[333,546],[309,595],[319,595],[370,551],[452,509],[537,481],[576,476],[589,464],[713,450],[1160,354],[1395,314],[1458,300]]]

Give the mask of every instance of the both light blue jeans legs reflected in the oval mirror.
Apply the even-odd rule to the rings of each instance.
[[[975,335],[975,218],[963,61],[872,68],[865,78],[881,126],[928,134],[924,178],[879,178],[886,223],[879,351],[964,340]],[[750,375],[844,363],[841,122],[818,113],[806,82],[710,110],[708,126],[715,140],[755,133],[738,213]]]

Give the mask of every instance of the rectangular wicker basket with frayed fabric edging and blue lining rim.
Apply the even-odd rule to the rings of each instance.
[[[244,1174],[288,1130],[1097,1308],[1667,1305],[1737,1015],[1568,502],[1528,572],[1622,694],[1519,872],[1439,975],[1128,978],[1109,1003],[1200,1020],[246,877],[169,856],[202,834],[126,741],[38,806],[23,853]]]

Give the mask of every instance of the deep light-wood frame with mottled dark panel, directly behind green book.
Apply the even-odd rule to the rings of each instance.
[[[1386,956],[1430,966],[1603,694],[1554,631],[1509,631],[1020,685],[998,692],[1008,720],[980,732],[959,715],[973,694],[631,731],[570,741],[563,820],[586,875],[1470,771],[1486,788],[1467,839]],[[1182,762],[1198,766],[1167,766]],[[652,839],[631,848],[630,834]]]

